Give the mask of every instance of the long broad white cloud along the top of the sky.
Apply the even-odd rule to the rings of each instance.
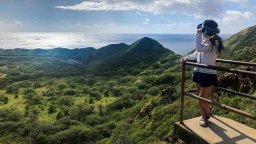
[[[221,13],[221,0],[97,0],[82,2],[73,6],[55,6],[58,9],[83,11],[127,11],[137,10],[153,14],[183,13],[197,17],[218,16]],[[140,12],[136,12],[141,14]]]

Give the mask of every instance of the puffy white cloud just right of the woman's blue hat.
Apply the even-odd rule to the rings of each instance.
[[[251,20],[254,18],[254,15],[250,12],[239,12],[239,11],[226,11],[223,15],[222,22],[225,24],[229,23],[241,23],[244,20]]]

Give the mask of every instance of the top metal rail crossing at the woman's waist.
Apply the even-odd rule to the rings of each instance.
[[[246,71],[246,70],[239,70],[239,69],[233,69],[233,68],[223,68],[223,67],[205,65],[202,63],[195,63],[195,62],[189,62],[189,61],[185,61],[185,65],[227,71],[228,73],[243,74],[243,75],[247,75],[247,76],[256,77],[256,72],[254,72],[254,71]]]

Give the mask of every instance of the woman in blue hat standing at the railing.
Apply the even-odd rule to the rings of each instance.
[[[196,33],[196,51],[180,60],[181,65],[186,60],[197,60],[197,63],[215,66],[218,53],[223,50],[221,38],[217,35],[220,33],[217,22],[205,20],[197,26]],[[202,42],[202,34],[205,41]],[[195,67],[193,70],[192,80],[195,82],[197,95],[207,98],[213,86],[218,86],[216,70]],[[198,109],[202,118],[199,125],[206,126],[207,119],[211,117],[212,108],[209,103],[197,100]]]

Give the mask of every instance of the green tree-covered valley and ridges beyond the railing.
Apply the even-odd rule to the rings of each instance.
[[[0,49],[0,55],[0,143],[182,143],[173,135],[181,56],[151,38],[99,50]],[[192,69],[186,89],[194,88]],[[256,114],[255,101],[220,96]],[[223,109],[214,114],[256,127]],[[196,116],[196,100],[186,97],[185,119]]]

